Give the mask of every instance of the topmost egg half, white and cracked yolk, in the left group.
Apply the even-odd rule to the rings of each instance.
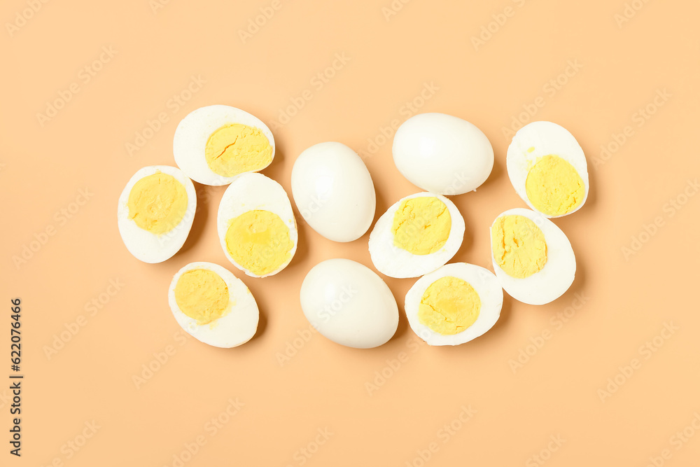
[[[207,106],[181,120],[173,154],[190,179],[227,185],[239,174],[265,169],[274,158],[274,138],[265,123],[246,111]]]

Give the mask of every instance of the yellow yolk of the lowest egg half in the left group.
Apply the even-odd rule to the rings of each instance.
[[[175,285],[175,301],[181,311],[198,324],[211,323],[230,309],[228,286],[214,271],[185,272]]]

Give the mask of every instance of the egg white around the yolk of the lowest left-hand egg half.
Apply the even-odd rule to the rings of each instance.
[[[224,314],[208,323],[200,323],[185,314],[176,300],[175,289],[178,281],[186,272],[209,270],[221,277],[228,288],[230,301]],[[178,324],[197,340],[214,347],[229,349],[245,344],[258,330],[260,312],[253,294],[246,284],[235,277],[229,270],[214,263],[190,263],[176,272],[168,291],[168,302]]]

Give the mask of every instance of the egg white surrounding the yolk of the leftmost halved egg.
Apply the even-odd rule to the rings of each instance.
[[[187,195],[187,209],[182,220],[168,232],[155,234],[139,227],[130,216],[129,196],[137,182],[153,174],[167,174],[182,184]],[[157,202],[157,200],[154,200]],[[132,255],[144,263],[161,263],[172,258],[185,244],[197,210],[197,193],[192,181],[176,167],[153,165],[139,169],[129,180],[119,196],[117,225],[122,240]]]

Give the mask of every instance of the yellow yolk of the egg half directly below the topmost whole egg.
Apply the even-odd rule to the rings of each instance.
[[[444,202],[436,197],[419,196],[404,200],[393,218],[393,244],[414,255],[428,255],[441,249],[452,228]]]

